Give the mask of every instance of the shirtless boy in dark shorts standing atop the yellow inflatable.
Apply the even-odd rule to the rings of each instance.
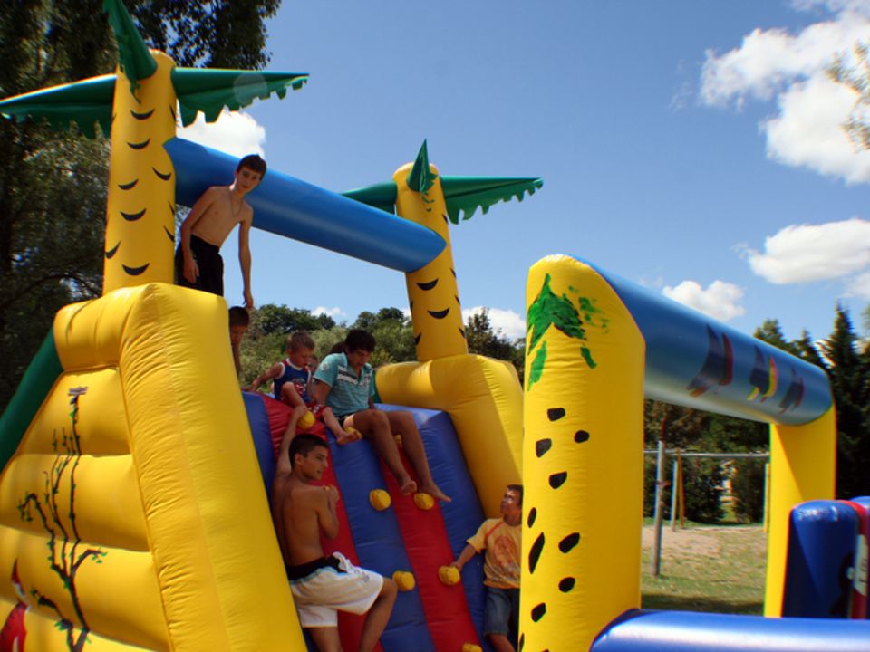
[[[175,253],[176,283],[224,295],[224,261],[220,246],[238,228],[238,263],[245,285],[245,307],[254,307],[251,296],[251,250],[248,235],[254,210],[245,196],[266,176],[266,161],[251,154],[236,167],[231,186],[212,186],[199,197],[181,224],[181,242]]]

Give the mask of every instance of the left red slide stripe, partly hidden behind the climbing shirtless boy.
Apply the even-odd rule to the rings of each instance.
[[[287,423],[290,421],[290,415],[293,409],[285,405],[281,401],[276,401],[274,398],[265,397],[263,403],[266,405],[266,414],[269,417],[269,432],[272,435],[272,444],[275,446],[275,455],[281,447],[281,439],[284,437],[284,432],[287,429]],[[323,424],[318,421],[309,430],[299,432],[314,433],[326,441]],[[327,442],[328,444],[328,442]],[[332,484],[338,488],[338,480],[335,478],[335,469],[333,468],[333,456],[330,453],[329,466],[324,471],[323,477],[314,484],[326,485]],[[344,502],[338,501],[335,505],[335,515],[338,518],[338,536],[334,539],[327,539],[321,534],[320,544],[324,549],[324,555],[330,555],[335,551],[341,552],[347,557],[354,566],[359,566],[360,558],[356,555],[356,547],[353,545],[353,535],[351,533],[351,524],[348,521],[347,513],[344,511]],[[357,649],[360,647],[360,639],[362,638],[362,625],[365,622],[365,615],[357,616],[356,614],[338,613],[338,635],[342,639],[342,647],[344,649]],[[381,644],[378,643],[375,647],[375,652],[383,652]]]

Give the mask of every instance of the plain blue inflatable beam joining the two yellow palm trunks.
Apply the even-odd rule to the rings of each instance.
[[[233,179],[237,158],[179,138],[165,147],[175,166],[176,201],[182,206],[193,206],[208,187]],[[267,172],[247,201],[259,229],[399,272],[429,264],[445,246],[425,226],[276,170]]]

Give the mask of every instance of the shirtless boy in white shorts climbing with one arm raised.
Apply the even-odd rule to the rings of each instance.
[[[299,614],[320,652],[340,652],[338,613],[368,611],[360,650],[377,645],[396,600],[396,583],[353,566],[343,554],[324,557],[320,532],[338,535],[338,490],[312,483],[324,475],[329,449],[314,435],[295,435],[295,417],[287,424],[272,485],[272,518],[284,553],[287,578]]]

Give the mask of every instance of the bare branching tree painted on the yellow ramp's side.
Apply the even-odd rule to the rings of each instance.
[[[73,619],[64,616],[58,604],[43,591],[34,587],[30,593],[38,606],[52,609],[57,614],[57,628],[65,632],[66,645],[73,652],[80,652],[84,648],[91,631],[76,589],[76,577],[86,561],[91,560],[99,564],[107,554],[101,548],[83,544],[76,525],[75,473],[82,459],[77,428],[79,398],[87,391],[86,387],[69,390],[72,425],[69,432],[65,427],[61,427],[59,433],[56,429],[53,432],[52,446],[56,455],[51,469],[45,472],[43,494],[35,491],[28,492],[18,503],[18,512],[22,521],[33,521],[35,514],[43,524],[43,530],[48,533],[48,542],[45,544],[49,551],[48,562],[53,573],[60,578],[63,589],[69,594],[75,618],[81,623],[81,628],[76,631]],[[62,502],[61,487],[64,483],[68,483],[69,487],[68,503]]]

